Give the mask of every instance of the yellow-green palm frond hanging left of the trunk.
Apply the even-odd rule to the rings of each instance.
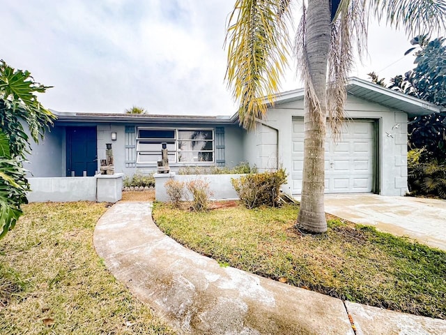
[[[243,128],[253,128],[256,119],[263,119],[263,97],[273,103],[279,91],[289,49],[289,4],[286,0],[238,0],[229,15],[224,42],[228,47],[225,80],[240,101]]]

